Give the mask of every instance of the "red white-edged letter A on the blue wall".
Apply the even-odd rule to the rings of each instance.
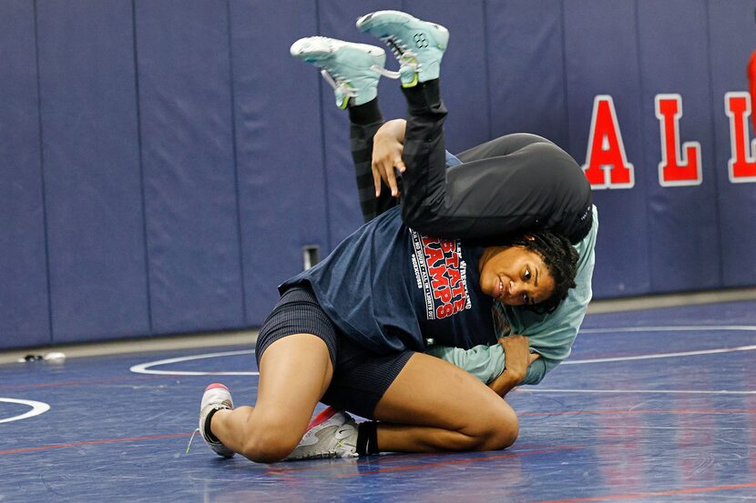
[[[599,95],[593,100],[583,171],[593,188],[630,188],[635,185],[635,168],[625,155],[611,96]]]

